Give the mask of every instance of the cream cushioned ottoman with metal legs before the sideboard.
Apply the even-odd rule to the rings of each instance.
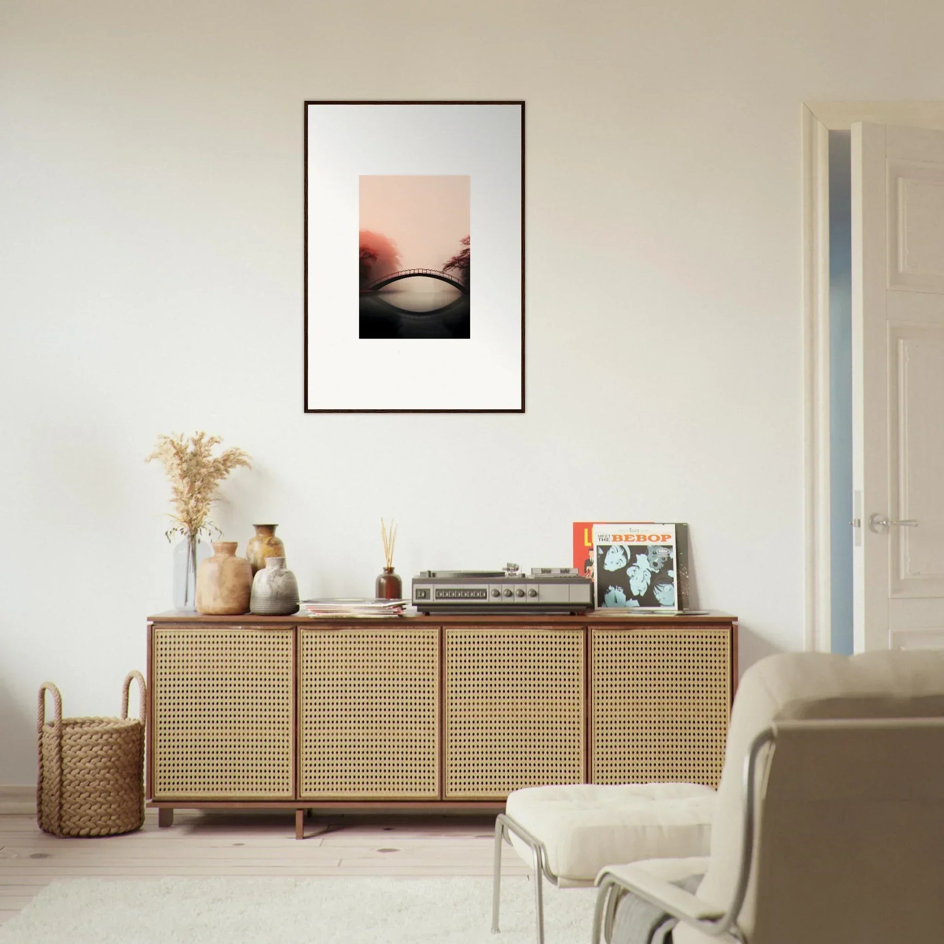
[[[537,940],[544,941],[541,875],[593,885],[604,866],[708,855],[715,791],[702,784],[533,786],[509,794],[495,823],[492,931],[498,930],[501,843],[534,868]]]

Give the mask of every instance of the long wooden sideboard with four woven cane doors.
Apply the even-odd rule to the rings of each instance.
[[[500,810],[537,784],[715,786],[737,621],[203,616],[147,624],[148,805]]]

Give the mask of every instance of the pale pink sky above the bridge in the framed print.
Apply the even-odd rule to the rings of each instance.
[[[382,233],[404,269],[441,269],[469,235],[469,178],[361,177],[359,229]]]

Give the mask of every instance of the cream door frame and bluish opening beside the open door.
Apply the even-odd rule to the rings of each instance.
[[[801,111],[804,648],[845,653],[857,645],[851,625],[861,587],[853,583],[852,562],[866,524],[853,501],[861,493],[851,487],[850,129],[865,122],[944,130],[944,101],[807,102]],[[927,635],[921,633],[922,645]],[[944,642],[944,631],[938,636]]]

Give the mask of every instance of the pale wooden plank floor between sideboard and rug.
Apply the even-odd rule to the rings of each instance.
[[[42,833],[33,817],[0,816],[0,923],[44,885],[69,878],[165,875],[491,875],[494,817],[332,816],[293,811],[201,814],[177,810],[170,829],[147,811],[142,830],[91,839]],[[527,866],[506,846],[506,874]]]

